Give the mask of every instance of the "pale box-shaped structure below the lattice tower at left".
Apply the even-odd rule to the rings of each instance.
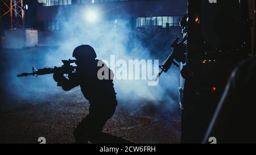
[[[12,29],[5,31],[5,48],[35,47],[38,45],[38,31]]]

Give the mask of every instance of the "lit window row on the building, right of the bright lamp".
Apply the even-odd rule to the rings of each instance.
[[[163,28],[177,27],[182,16],[152,16],[136,18],[136,27],[159,26]]]

